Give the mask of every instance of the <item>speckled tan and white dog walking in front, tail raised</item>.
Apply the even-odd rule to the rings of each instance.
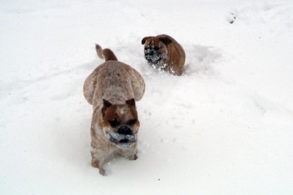
[[[105,62],[88,76],[83,94],[92,104],[92,166],[105,175],[104,163],[119,154],[135,160],[138,128],[136,101],[145,92],[143,77],[130,65],[117,61],[110,49],[96,45],[97,55]]]

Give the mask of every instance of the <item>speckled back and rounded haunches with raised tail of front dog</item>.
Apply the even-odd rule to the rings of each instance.
[[[120,96],[121,101],[134,98],[139,101],[145,92],[143,77],[130,65],[117,61],[113,51],[95,46],[97,56],[106,62],[99,65],[85,80],[83,94],[88,103],[102,103],[102,98]],[[111,96],[111,97],[110,97]]]

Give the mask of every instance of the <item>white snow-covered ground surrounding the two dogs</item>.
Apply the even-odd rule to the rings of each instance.
[[[236,18],[236,19],[235,19]],[[293,1],[0,2],[0,194],[293,194]],[[141,39],[169,34],[184,75]],[[144,77],[138,159],[90,165],[95,43]]]

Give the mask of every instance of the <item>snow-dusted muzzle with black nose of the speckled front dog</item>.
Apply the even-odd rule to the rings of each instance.
[[[118,127],[117,132],[110,132],[109,140],[121,149],[127,149],[131,144],[136,143],[136,136],[131,128],[127,126]]]

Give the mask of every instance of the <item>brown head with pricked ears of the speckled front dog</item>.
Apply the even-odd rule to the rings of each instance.
[[[136,101],[126,100],[125,104],[112,104],[103,99],[103,132],[109,141],[120,149],[136,144],[139,128]]]

